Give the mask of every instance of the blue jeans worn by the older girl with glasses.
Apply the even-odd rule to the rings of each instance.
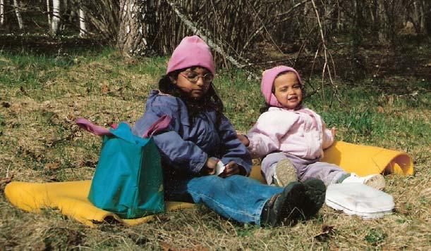
[[[209,175],[165,184],[165,199],[202,203],[228,219],[260,225],[265,202],[283,189],[241,175]]]

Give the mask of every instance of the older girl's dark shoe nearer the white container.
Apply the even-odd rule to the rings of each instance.
[[[304,212],[305,219],[314,217],[324,203],[326,195],[326,186],[320,179],[308,179],[303,182],[305,185]]]

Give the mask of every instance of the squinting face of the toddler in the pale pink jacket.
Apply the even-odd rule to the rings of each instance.
[[[284,108],[293,110],[301,104],[303,91],[293,72],[286,72],[274,79],[274,96]]]

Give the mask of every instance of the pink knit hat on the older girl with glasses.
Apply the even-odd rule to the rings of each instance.
[[[215,74],[210,47],[198,36],[184,37],[181,40],[169,59],[166,74],[192,66],[205,67],[212,75]]]

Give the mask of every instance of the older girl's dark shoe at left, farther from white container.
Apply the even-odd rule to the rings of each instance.
[[[262,209],[260,221],[262,226],[279,226],[293,224],[301,217],[304,210],[305,185],[291,182],[284,191],[273,195]]]

